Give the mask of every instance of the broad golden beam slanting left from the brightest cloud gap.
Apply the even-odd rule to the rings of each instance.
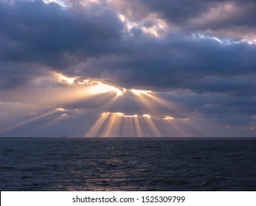
[[[37,93],[27,94],[26,99],[30,103],[38,105],[68,105],[74,102],[94,99],[101,96],[114,96],[110,102],[112,104],[119,96],[125,93],[125,88],[117,88],[114,85],[108,85],[93,79],[83,81],[77,77],[66,77],[63,74],[54,73],[55,82],[63,83],[61,87],[51,88],[42,92],[40,96]],[[68,95],[67,95],[68,94]]]

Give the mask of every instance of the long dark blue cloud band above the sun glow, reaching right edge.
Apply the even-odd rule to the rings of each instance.
[[[80,73],[105,77],[125,88],[255,95],[255,45],[173,37],[133,45],[123,56],[81,65]]]

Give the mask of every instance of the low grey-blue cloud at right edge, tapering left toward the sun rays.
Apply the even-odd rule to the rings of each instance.
[[[168,97],[176,104],[183,104],[188,111],[203,114],[216,121],[227,121],[228,118],[248,118],[256,114],[255,96],[229,96],[224,93],[184,93]]]

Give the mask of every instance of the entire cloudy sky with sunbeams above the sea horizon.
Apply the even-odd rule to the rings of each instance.
[[[0,136],[255,137],[255,10],[0,0]]]

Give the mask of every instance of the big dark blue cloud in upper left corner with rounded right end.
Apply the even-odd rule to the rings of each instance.
[[[116,50],[122,24],[107,7],[64,9],[43,1],[0,3],[1,61],[66,67]]]

